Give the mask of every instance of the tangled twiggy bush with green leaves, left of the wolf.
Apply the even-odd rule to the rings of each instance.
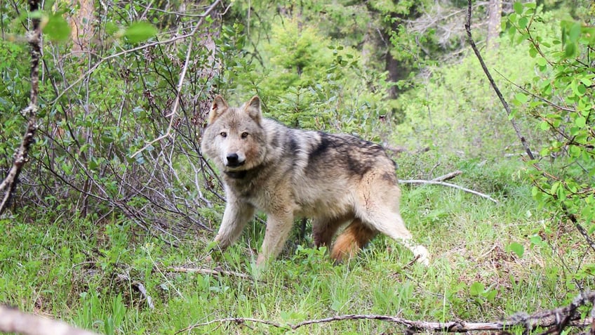
[[[218,59],[205,44],[176,44],[168,32],[155,36],[142,4],[116,4],[97,13],[105,20],[92,25],[88,57],[73,55],[72,45],[58,42],[69,33],[65,15],[76,15],[65,6],[32,13],[48,20],[48,71],[41,72],[39,88],[40,136],[20,175],[18,197],[94,220],[116,211],[145,228],[206,228],[198,209],[211,206],[218,185],[213,171],[203,169],[197,127],[204,123],[205,100],[213,95],[217,75],[203,69],[213,68]],[[179,22],[180,29],[187,20]],[[217,24],[208,20],[202,27]],[[22,33],[20,25],[2,29]],[[18,111],[27,105],[29,66],[20,61],[28,58],[25,45],[0,44],[3,171],[22,136],[24,119]],[[178,87],[181,74],[186,84]],[[179,100],[173,98],[177,95]],[[214,193],[203,195],[209,188]]]

